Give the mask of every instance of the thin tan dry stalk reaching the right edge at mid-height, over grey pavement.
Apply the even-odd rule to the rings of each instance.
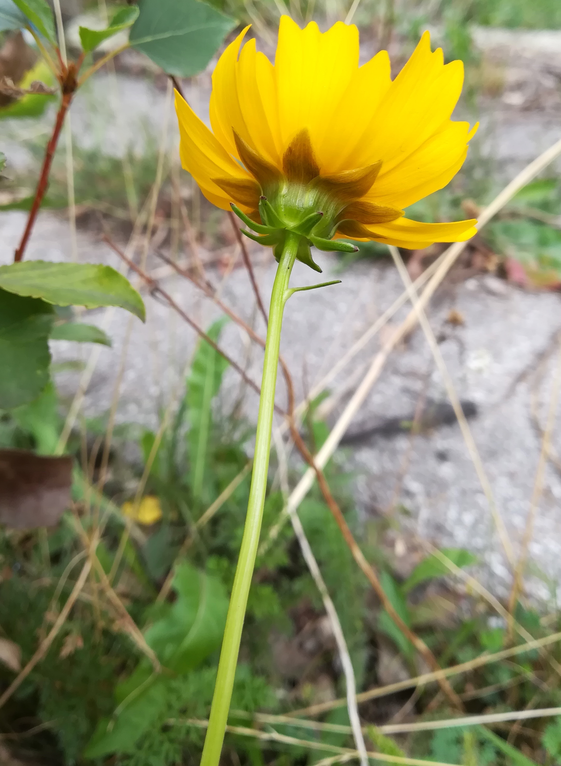
[[[508,611],[510,613],[508,624],[509,634],[512,633],[512,620],[514,610],[516,609],[518,594],[522,590],[522,578],[524,569],[526,568],[526,562],[528,558],[528,548],[533,536],[533,522],[536,516],[537,507],[540,503],[540,498],[543,493],[543,479],[546,471],[547,460],[550,456],[551,436],[553,434],[553,426],[555,424],[557,405],[559,404],[559,387],[561,386],[561,342],[559,342],[559,353],[557,357],[556,372],[553,378],[553,384],[551,388],[550,407],[547,413],[546,427],[543,430],[542,446],[540,450],[540,460],[538,460],[536,478],[533,483],[532,499],[530,500],[530,510],[526,520],[526,529],[524,530],[524,536],[522,541],[522,548],[520,550],[520,556],[518,557],[518,563],[516,571],[514,572],[514,583],[512,590],[510,591],[510,598],[508,602]]]

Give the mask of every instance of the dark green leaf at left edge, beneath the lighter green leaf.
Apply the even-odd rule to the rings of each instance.
[[[53,319],[48,303],[0,290],[0,409],[28,404],[47,385]]]

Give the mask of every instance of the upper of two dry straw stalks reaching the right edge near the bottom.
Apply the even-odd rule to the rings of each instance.
[[[357,702],[367,702],[369,699],[385,697],[388,694],[400,692],[402,689],[412,689],[416,686],[432,683],[441,675],[449,678],[450,676],[458,676],[460,673],[468,673],[470,670],[475,670],[476,668],[489,665],[490,663],[497,663],[501,660],[507,660],[517,654],[523,654],[533,649],[548,647],[550,644],[557,643],[558,641],[561,641],[561,633],[552,633],[551,636],[545,636],[543,638],[534,639],[533,641],[528,641],[527,643],[521,643],[517,647],[510,647],[509,649],[504,649],[493,654],[484,653],[481,654],[481,656],[475,657],[475,660],[468,660],[468,662],[444,668],[440,670],[439,673],[423,673],[422,676],[416,676],[416,678],[408,678],[404,681],[390,683],[387,686],[378,686],[375,689],[360,692],[360,694],[357,694]],[[318,702],[317,705],[309,705],[307,708],[293,710],[292,715],[319,715],[327,710],[340,708],[344,704],[345,700],[342,698],[334,699],[330,702]]]

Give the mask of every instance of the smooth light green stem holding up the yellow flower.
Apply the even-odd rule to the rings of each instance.
[[[236,674],[238,652],[243,629],[243,619],[246,614],[247,597],[250,592],[253,567],[259,544],[259,532],[263,519],[263,506],[267,488],[267,472],[269,470],[269,450],[271,448],[272,413],[275,404],[276,371],[279,364],[279,346],[282,326],[282,313],[289,299],[289,280],[292,267],[298,251],[300,236],[287,232],[285,247],[279,261],[275,283],[272,286],[271,306],[269,309],[269,326],[265,344],[265,359],[263,361],[263,380],[261,382],[261,397],[259,398],[259,416],[255,441],[255,456],[253,458],[253,474],[251,477],[250,500],[247,505],[246,525],[243,529],[243,539],[240,548],[240,558],[233,581],[230,607],[226,620],[226,630],[220,651],[217,683],[214,687],[214,697],[210,709],[207,736],[204,740],[201,766],[217,766],[224,732],[230,710],[233,679]]]

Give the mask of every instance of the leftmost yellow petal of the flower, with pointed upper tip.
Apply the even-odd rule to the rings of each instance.
[[[220,146],[210,130],[197,117],[191,106],[175,93],[181,144],[181,165],[191,173],[203,194],[223,210],[230,209],[230,200],[213,178],[249,178],[249,174]]]

